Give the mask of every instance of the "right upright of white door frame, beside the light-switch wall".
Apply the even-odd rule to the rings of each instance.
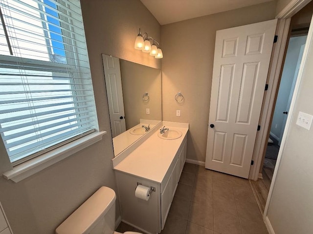
[[[287,117],[286,126],[285,126],[285,130],[284,130],[284,135],[283,135],[282,142],[281,142],[281,145],[280,145],[280,149],[279,149],[279,152],[278,152],[278,156],[277,156],[275,170],[274,170],[274,173],[273,173],[272,182],[271,182],[270,187],[269,187],[268,199],[266,201],[264,214],[263,214],[263,219],[266,219],[267,214],[268,214],[269,201],[270,201],[271,196],[273,194],[273,188],[274,188],[274,184],[275,184],[275,180],[276,180],[276,176],[277,176],[277,171],[279,169],[280,160],[281,160],[284,148],[285,148],[286,137],[289,134],[289,129],[290,129],[290,126],[291,126],[291,120],[292,120],[293,115],[295,114],[294,113],[295,102],[296,102],[296,99],[298,97],[298,92],[299,92],[300,84],[301,84],[302,77],[303,77],[303,71],[304,71],[305,66],[307,65],[307,59],[308,59],[309,50],[312,50],[311,47],[312,47],[312,43],[313,43],[313,41],[312,41],[313,40],[313,27],[312,27],[312,25],[313,25],[313,18],[311,20],[311,24],[310,25],[311,25],[311,27],[309,28],[308,38],[307,38],[307,41],[306,41],[306,44],[305,44],[305,48],[304,48],[304,51],[303,51],[303,56],[302,56],[302,61],[301,61],[298,77],[297,77],[297,80],[296,80],[296,83],[295,83],[295,86],[294,86],[294,92],[293,92],[292,99],[291,99],[289,115]]]

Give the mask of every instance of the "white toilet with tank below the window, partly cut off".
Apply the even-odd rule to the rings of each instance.
[[[55,230],[56,234],[120,234],[115,229],[115,192],[101,187]],[[140,234],[125,232],[124,234]]]

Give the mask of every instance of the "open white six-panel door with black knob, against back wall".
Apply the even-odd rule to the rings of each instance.
[[[249,175],[276,23],[216,32],[205,168]]]

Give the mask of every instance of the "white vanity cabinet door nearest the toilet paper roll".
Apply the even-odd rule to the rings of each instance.
[[[172,204],[172,176],[167,181],[167,184],[164,187],[163,193],[161,194],[161,226],[162,230],[165,225],[167,215],[170,211]]]

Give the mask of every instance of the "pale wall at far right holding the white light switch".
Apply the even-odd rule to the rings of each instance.
[[[313,230],[313,127],[308,131],[295,125],[299,111],[313,115],[312,43],[268,208],[275,234]]]

